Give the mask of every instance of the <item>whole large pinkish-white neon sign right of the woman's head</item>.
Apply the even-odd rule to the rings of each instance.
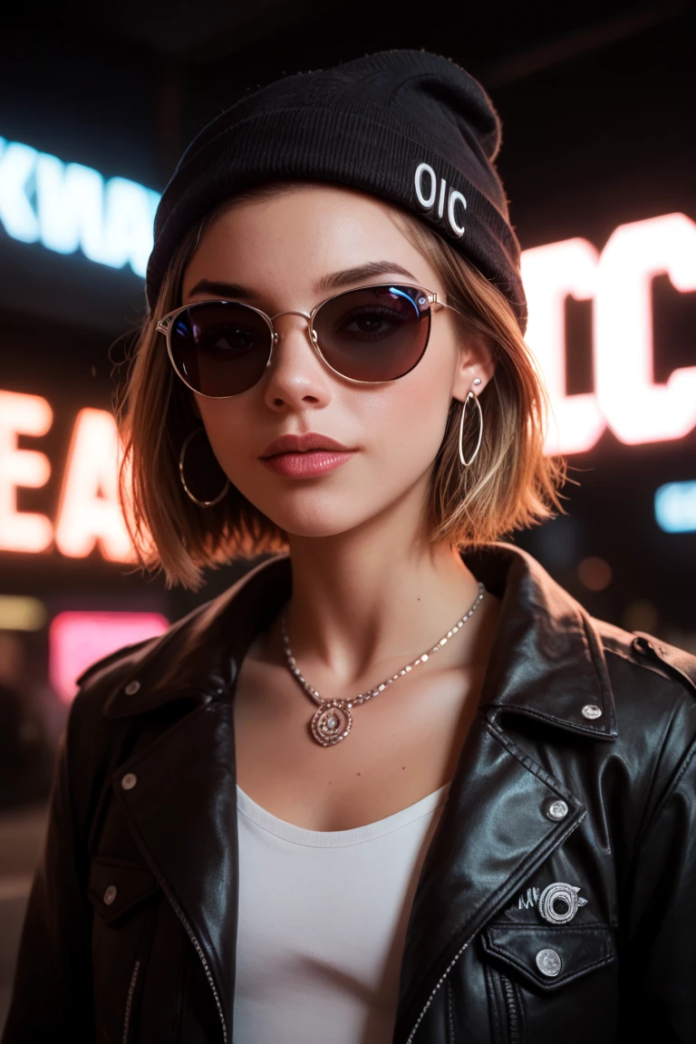
[[[666,214],[619,226],[599,253],[586,239],[522,255],[529,299],[528,343],[544,373],[556,427],[547,452],[592,449],[605,428],[619,442],[682,438],[696,426],[696,366],[653,379],[652,279],[666,274],[681,293],[696,290],[696,223]],[[566,299],[593,302],[594,392],[566,394]]]

